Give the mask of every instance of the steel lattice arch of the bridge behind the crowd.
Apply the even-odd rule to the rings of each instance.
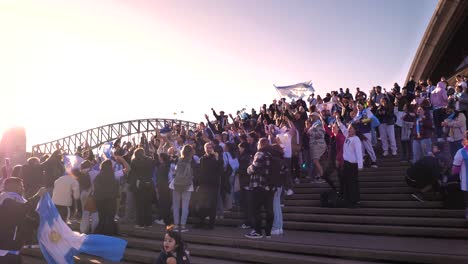
[[[179,124],[184,126],[187,130],[195,129],[197,126],[197,123],[194,122],[175,119],[148,118],[123,121],[91,128],[71,136],[34,145],[32,146],[31,154],[33,156],[38,156],[41,154],[53,153],[56,143],[59,143],[65,152],[72,154],[77,150],[78,146],[81,146],[84,142],[88,142],[91,149],[95,149],[106,142],[116,140],[119,136],[126,137],[144,133],[149,138],[149,133],[162,129],[166,124],[171,126]]]

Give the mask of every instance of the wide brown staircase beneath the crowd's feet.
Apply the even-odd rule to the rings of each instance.
[[[438,200],[411,199],[408,164],[388,157],[379,168],[359,172],[361,207],[321,208],[326,184],[300,183],[284,201],[285,234],[249,240],[238,229],[242,213],[230,212],[215,230],[190,230],[183,237],[193,263],[468,263],[468,221],[463,210],[442,209]],[[336,179],[334,179],[337,182]],[[152,263],[164,228],[121,226],[128,241],[125,263]],[[44,263],[39,250],[24,251],[24,263]],[[79,256],[76,263],[105,263]]]

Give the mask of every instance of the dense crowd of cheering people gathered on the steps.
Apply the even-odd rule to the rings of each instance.
[[[59,145],[24,165],[5,161],[2,179],[22,179],[25,197],[45,187],[64,221],[79,211],[81,232],[107,235],[118,233],[116,221],[187,232],[189,215],[193,228],[213,229],[230,210],[244,212],[240,227],[252,229],[247,238],[280,235],[282,201],[294,184],[327,182],[342,206],[356,208],[359,171],[388,156],[411,164],[407,182],[417,189],[415,199],[456,182],[464,195],[458,202],[468,207],[468,88],[466,77],[456,79],[451,87],[445,78],[435,86],[411,78],[403,88],[376,86],[368,94],[357,88],[354,96],[340,88],[235,115],[211,109],[212,118],[205,115],[196,129],[176,122],[142,134],[138,143],[118,138],[104,160],[85,142],[73,153],[84,161],[69,172]]]

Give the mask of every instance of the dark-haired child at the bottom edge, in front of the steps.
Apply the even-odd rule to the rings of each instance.
[[[174,231],[173,226],[168,227],[164,236],[163,250],[154,264],[190,264],[185,243],[180,233]]]

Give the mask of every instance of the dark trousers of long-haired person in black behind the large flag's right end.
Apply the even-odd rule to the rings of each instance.
[[[99,215],[99,223],[95,233],[114,236],[117,235],[117,224],[114,221],[117,210],[116,199],[96,199],[96,207]]]

